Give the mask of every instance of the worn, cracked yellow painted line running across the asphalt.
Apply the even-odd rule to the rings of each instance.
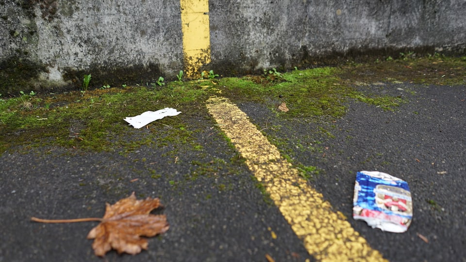
[[[246,164],[278,206],[309,254],[319,261],[386,261],[322,194],[300,178],[277,147],[226,98],[207,100],[209,113],[246,159]],[[280,237],[280,236],[278,236]]]

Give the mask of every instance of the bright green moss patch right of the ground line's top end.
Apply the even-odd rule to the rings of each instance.
[[[402,102],[391,96],[368,95],[356,91],[350,81],[340,75],[345,68],[321,67],[294,70],[281,75],[282,82],[258,81],[257,76],[224,78],[222,94],[235,102],[257,101],[267,104],[283,118],[341,117],[345,115],[348,98],[391,109]],[[268,76],[263,78],[267,79]],[[283,112],[279,106],[285,103],[289,109]]]

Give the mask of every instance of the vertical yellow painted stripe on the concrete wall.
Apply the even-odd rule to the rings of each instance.
[[[199,78],[200,67],[210,63],[209,1],[180,0],[180,7],[185,74]]]

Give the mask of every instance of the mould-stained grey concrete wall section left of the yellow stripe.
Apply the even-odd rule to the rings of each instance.
[[[87,73],[91,84],[140,83],[183,68],[176,1],[0,1],[0,14],[3,94],[79,87]]]

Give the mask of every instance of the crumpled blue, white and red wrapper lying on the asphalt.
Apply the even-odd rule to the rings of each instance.
[[[406,181],[378,171],[356,174],[353,218],[372,228],[405,232],[413,219],[413,201]]]

